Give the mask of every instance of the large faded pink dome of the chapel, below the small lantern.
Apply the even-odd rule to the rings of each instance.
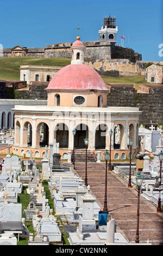
[[[60,69],[48,84],[46,90],[105,90],[102,77],[90,66],[70,64]]]

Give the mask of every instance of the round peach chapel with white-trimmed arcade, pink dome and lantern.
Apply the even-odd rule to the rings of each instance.
[[[110,148],[111,159],[126,159],[129,138],[134,139],[133,154],[139,150],[139,108],[107,107],[108,88],[99,74],[84,64],[84,45],[77,37],[72,45],[72,62],[60,69],[49,82],[47,106],[15,106],[15,144],[18,155],[33,150],[42,157],[45,146],[54,139],[62,155],[76,149],[95,154]],[[73,138],[73,129],[76,136]],[[117,155],[116,155],[117,154]]]

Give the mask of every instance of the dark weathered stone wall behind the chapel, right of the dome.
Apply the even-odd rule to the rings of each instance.
[[[135,90],[134,84],[108,84],[108,106],[139,107],[142,111],[139,123],[163,124],[163,85],[142,84],[140,90]],[[148,88],[148,90],[147,90]]]

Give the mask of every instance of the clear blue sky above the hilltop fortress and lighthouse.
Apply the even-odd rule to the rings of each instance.
[[[98,40],[104,16],[116,16],[117,43],[142,54],[142,60],[163,61],[163,0],[7,0],[0,5],[0,44],[45,47],[59,42]],[[161,52],[163,53],[163,51]]]

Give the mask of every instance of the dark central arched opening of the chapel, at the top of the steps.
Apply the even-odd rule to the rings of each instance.
[[[75,148],[85,149],[84,139],[89,139],[89,127],[86,124],[79,124],[76,127]]]

